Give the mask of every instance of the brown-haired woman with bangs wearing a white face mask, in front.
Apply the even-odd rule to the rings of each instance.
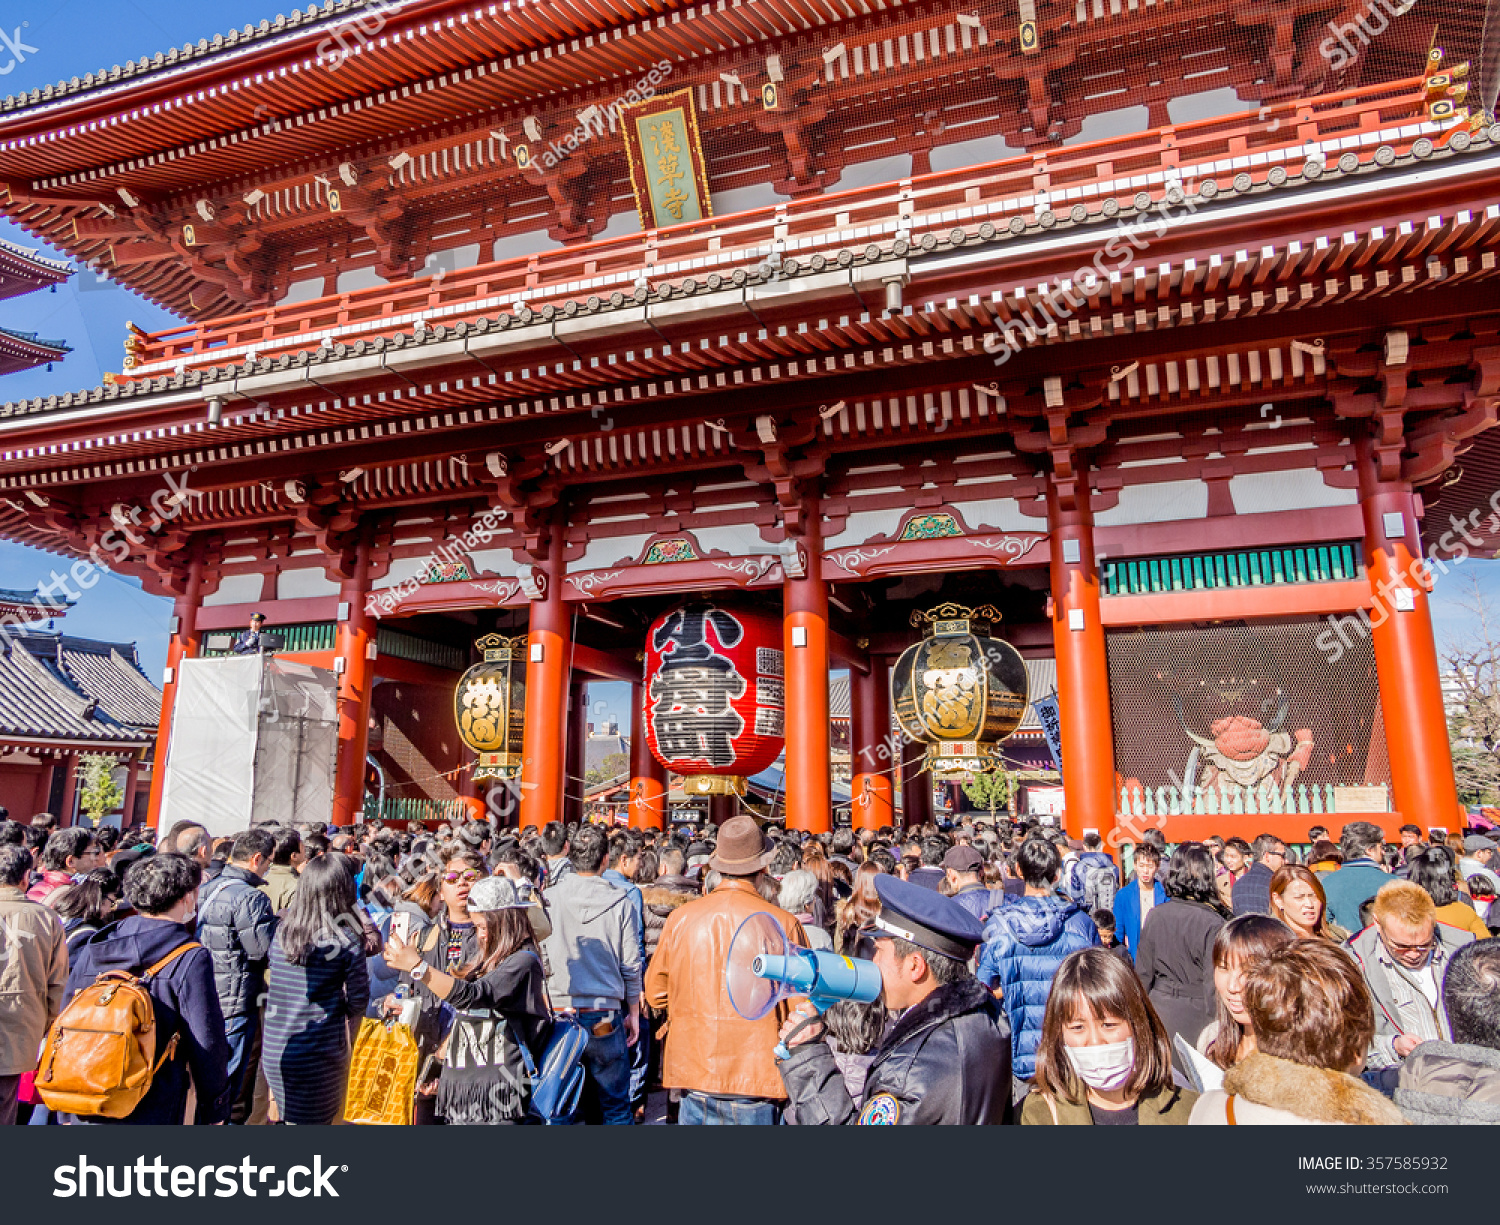
[[[1146,990],[1107,949],[1080,949],[1047,997],[1023,1125],[1185,1125],[1197,1095],[1172,1081],[1172,1045]]]

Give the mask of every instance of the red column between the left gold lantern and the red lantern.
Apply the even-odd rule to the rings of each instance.
[[[562,819],[564,745],[572,622],[562,601],[562,517],[549,528],[548,561],[537,567],[546,579],[540,600],[531,601],[526,636],[526,730],[520,765],[520,828]]]

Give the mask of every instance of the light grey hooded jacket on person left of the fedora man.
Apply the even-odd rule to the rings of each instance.
[[[630,898],[598,876],[566,873],[546,891],[554,1008],[615,1009],[640,997],[640,937]]]

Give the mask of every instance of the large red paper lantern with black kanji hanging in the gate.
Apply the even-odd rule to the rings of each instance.
[[[698,603],[657,618],[646,634],[651,754],[688,795],[744,795],[782,754],[784,675],[780,618]]]

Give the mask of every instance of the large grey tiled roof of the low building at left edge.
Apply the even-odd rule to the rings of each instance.
[[[138,745],[159,714],[134,645],[38,630],[0,642],[0,736]]]

